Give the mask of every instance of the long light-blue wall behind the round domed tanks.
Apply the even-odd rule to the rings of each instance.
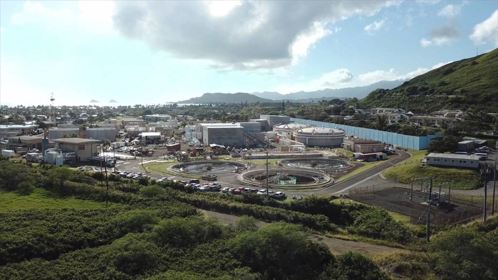
[[[386,132],[386,131],[358,128],[346,125],[317,122],[317,121],[303,120],[296,118],[290,118],[290,120],[291,122],[294,123],[313,125],[316,127],[324,127],[330,129],[339,128],[343,129],[346,132],[346,135],[354,135],[355,137],[368,139],[368,140],[377,140],[382,143],[396,145],[398,147],[414,149],[414,150],[427,149],[429,147],[429,142],[433,138],[443,136],[442,132],[438,132],[435,135],[429,134],[427,136],[411,136],[411,135],[397,134],[394,132]]]

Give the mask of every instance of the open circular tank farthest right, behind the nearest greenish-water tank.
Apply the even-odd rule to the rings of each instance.
[[[351,163],[346,160],[309,157],[282,159],[277,164],[283,167],[314,170],[335,170],[351,166]]]

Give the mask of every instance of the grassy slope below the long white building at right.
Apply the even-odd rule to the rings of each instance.
[[[423,164],[420,159],[426,151],[414,151],[413,156],[405,160],[405,164],[386,169],[382,175],[387,179],[396,180],[408,184],[412,178],[434,176],[434,185],[444,182],[452,182],[454,189],[475,189],[479,187],[480,175],[476,170],[461,168],[442,168]],[[413,160],[415,160],[412,162]],[[403,162],[402,162],[403,163]]]

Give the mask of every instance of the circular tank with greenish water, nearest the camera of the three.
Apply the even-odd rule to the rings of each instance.
[[[324,172],[302,169],[272,168],[268,170],[268,185],[272,187],[315,187],[333,182]],[[266,169],[251,170],[239,175],[239,180],[253,186],[266,185]]]

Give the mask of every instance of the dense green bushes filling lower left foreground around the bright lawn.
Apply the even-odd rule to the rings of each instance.
[[[30,184],[54,196],[105,199],[95,175],[67,167],[0,164],[3,191],[20,193],[19,178],[40,178]],[[10,176],[14,170],[18,176]],[[188,194],[175,183],[111,185],[109,199],[120,203],[112,207],[0,213],[0,279],[386,279],[371,259],[352,253],[335,257],[310,239],[299,224],[330,227],[321,210],[304,213],[268,206],[269,200],[251,205],[240,198]],[[311,204],[289,209],[306,211]],[[194,206],[295,224],[278,222],[258,230],[253,219],[243,217],[228,227],[203,218]]]

